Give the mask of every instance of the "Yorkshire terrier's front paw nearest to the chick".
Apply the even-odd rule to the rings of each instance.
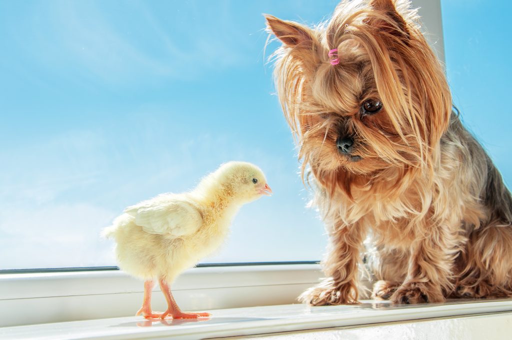
[[[336,288],[332,280],[326,280],[306,290],[298,300],[312,306],[357,304],[357,288],[352,283]]]

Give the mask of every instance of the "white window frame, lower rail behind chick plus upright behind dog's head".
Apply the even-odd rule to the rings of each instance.
[[[444,61],[440,0],[413,0],[413,6],[420,8],[426,37]],[[291,304],[321,277],[318,264],[200,267],[183,273],[173,292],[184,310]],[[153,307],[162,310],[166,306],[158,291],[157,286]],[[143,283],[119,270],[4,271],[0,327],[129,316],[142,294]]]

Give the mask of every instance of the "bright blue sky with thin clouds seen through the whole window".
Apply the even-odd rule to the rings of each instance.
[[[275,195],[204,262],[320,259],[261,14],[312,24],[336,4],[0,1],[0,268],[114,265],[98,233],[125,206],[231,159],[262,167]],[[510,29],[491,19],[510,5],[442,5],[455,102],[510,182]]]

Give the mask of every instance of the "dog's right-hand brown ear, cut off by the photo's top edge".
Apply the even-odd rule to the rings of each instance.
[[[375,10],[375,15],[366,20],[368,24],[380,32],[399,38],[409,38],[407,22],[398,13],[392,0],[372,0],[370,6]]]

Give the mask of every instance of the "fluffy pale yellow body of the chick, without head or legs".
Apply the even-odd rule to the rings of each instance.
[[[160,195],[126,208],[104,235],[115,238],[122,270],[143,280],[163,277],[173,282],[178,274],[214,252],[227,233],[221,216],[216,225],[205,227],[203,215],[210,220],[215,211],[201,210],[182,195]]]

